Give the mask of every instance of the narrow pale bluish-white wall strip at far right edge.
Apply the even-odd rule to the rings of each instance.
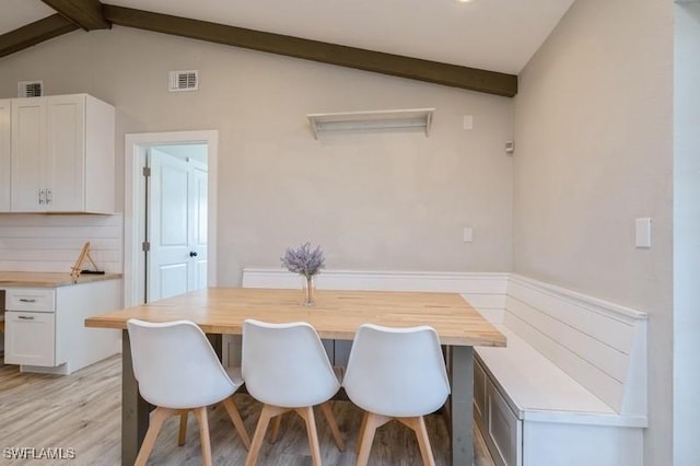
[[[700,464],[700,2],[676,5],[674,464]]]

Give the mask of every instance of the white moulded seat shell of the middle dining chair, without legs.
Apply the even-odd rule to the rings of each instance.
[[[246,389],[267,405],[315,406],[340,388],[318,334],[304,322],[246,319],[241,365]]]

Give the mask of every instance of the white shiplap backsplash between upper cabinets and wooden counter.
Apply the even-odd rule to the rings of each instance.
[[[85,242],[97,267],[122,271],[122,215],[2,214],[0,270],[70,272]]]

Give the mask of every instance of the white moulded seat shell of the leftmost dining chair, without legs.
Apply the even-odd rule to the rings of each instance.
[[[209,406],[238,387],[196,324],[132,318],[127,327],[139,393],[150,404],[173,409]]]

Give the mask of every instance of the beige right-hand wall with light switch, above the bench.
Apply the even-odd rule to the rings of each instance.
[[[649,466],[672,464],[673,31],[670,1],[578,0],[515,98],[514,271],[650,314]]]

